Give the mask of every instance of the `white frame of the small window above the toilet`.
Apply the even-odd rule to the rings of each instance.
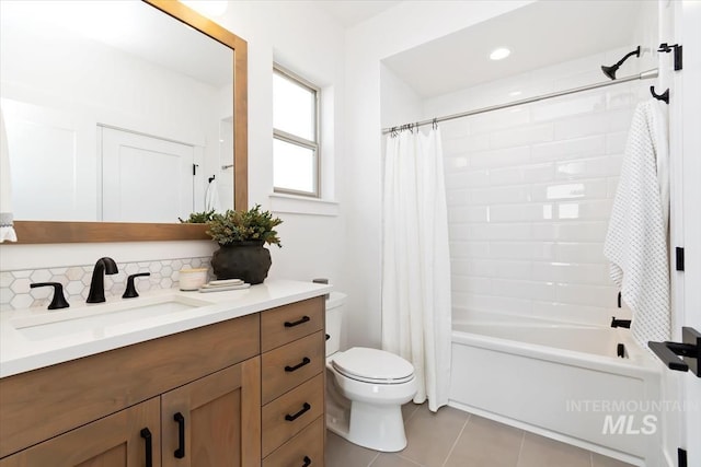
[[[288,80],[294,81],[296,84],[307,87],[314,93],[314,141],[297,135],[288,133],[287,131],[278,130],[275,127],[273,127],[273,139],[311,150],[313,152],[313,170],[315,172],[312,177],[314,183],[313,191],[301,191],[276,187],[275,182],[273,182],[273,191],[286,195],[321,198],[321,87],[285,69],[284,67],[280,67],[278,63],[273,63],[273,73],[281,74]],[[273,105],[275,105],[275,103],[273,103]],[[273,161],[273,164],[275,164],[275,161]]]

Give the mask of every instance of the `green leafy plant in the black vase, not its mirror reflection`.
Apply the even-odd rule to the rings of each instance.
[[[235,242],[263,241],[268,245],[281,247],[275,227],[281,224],[279,218],[273,218],[269,211],[261,211],[255,205],[248,211],[229,209],[223,214],[215,213],[207,222],[207,234],[219,245],[231,245]]]

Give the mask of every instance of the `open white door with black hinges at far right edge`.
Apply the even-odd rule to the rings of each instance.
[[[671,340],[681,342],[681,328],[701,331],[701,2],[662,2],[673,9],[675,44],[683,46],[683,68],[674,71],[670,87],[670,240],[683,247],[683,271],[675,270]],[[667,54],[671,56],[673,54]],[[669,67],[673,57],[668,58]],[[663,402],[667,412],[665,465],[680,466],[678,448],[686,451],[687,466],[701,466],[701,377],[691,372],[665,370],[669,388]]]

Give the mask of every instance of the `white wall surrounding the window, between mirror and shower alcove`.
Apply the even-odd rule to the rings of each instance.
[[[229,3],[222,25],[249,43],[249,205],[278,210],[283,248],[271,247],[271,278],[340,283],[345,230],[341,215],[279,212],[273,194],[273,61],[322,87],[322,191],[342,203],[336,161],[343,157],[344,31],[320,9],[303,2]],[[301,208],[300,208],[301,205]],[[319,202],[302,201],[295,210],[315,212]],[[337,213],[333,207],[331,214]]]

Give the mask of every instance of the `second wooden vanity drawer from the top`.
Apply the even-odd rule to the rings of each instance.
[[[265,352],[262,358],[262,402],[321,373],[324,367],[324,334],[318,331]]]

